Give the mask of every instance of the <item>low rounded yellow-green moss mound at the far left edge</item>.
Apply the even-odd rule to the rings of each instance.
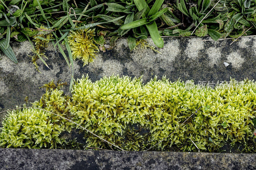
[[[62,144],[59,135],[64,128],[51,119],[51,114],[28,108],[15,110],[2,122],[0,146],[7,148],[56,148]]]

